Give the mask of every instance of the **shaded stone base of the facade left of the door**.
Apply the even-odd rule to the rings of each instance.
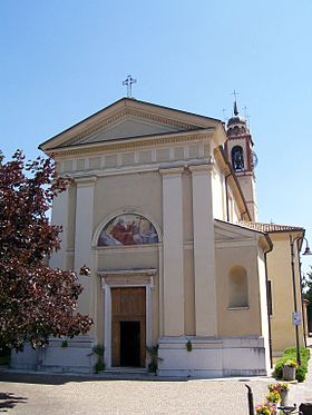
[[[67,339],[51,338],[49,346],[32,349],[25,345],[21,353],[12,352],[11,368],[47,370],[53,373],[92,373],[97,356],[92,353],[95,342],[91,337],[77,336]]]

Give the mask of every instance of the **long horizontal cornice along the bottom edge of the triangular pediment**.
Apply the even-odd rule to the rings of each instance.
[[[82,154],[92,154],[92,152],[108,152],[108,151],[116,151],[116,150],[125,150],[125,149],[131,149],[131,148],[145,148],[150,146],[159,146],[159,145],[168,145],[168,144],[175,144],[175,142],[185,142],[191,140],[202,140],[205,138],[209,138],[214,132],[214,129],[212,131],[201,131],[199,132],[193,132],[193,134],[183,134],[183,135],[176,135],[173,136],[163,136],[163,137],[148,137],[148,139],[145,138],[135,138],[135,139],[125,139],[124,141],[118,142],[103,142],[103,144],[96,144],[90,145],[90,147],[80,147],[80,148],[58,148],[58,149],[51,149],[46,150],[46,152],[50,156],[78,156]]]

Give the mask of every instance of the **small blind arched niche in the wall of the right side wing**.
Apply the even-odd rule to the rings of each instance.
[[[228,307],[248,306],[247,273],[244,267],[235,266],[228,274]]]

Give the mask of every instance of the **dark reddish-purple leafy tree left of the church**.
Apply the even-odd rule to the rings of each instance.
[[[11,161],[0,154],[0,350],[48,343],[49,336],[85,334],[92,322],[75,312],[82,292],[74,271],[46,265],[60,248],[61,227],[47,218],[53,197],[69,179],[57,177],[52,159]],[[87,267],[80,274],[88,274]]]

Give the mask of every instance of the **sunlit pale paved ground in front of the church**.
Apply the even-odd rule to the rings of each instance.
[[[312,359],[304,384],[292,385],[290,403],[312,402]],[[0,412],[8,415],[187,414],[247,415],[248,384],[263,401],[270,378],[162,381],[104,379],[0,372]]]

